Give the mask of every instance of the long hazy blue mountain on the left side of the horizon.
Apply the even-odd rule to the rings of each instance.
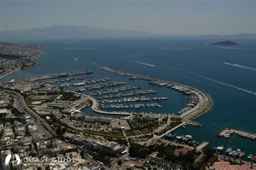
[[[54,25],[44,28],[2,31],[0,40],[37,40],[37,39],[91,39],[152,37],[154,34],[144,31],[111,30],[90,26]]]

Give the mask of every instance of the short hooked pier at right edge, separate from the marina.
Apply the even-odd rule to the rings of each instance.
[[[256,133],[236,130],[234,128],[225,128],[224,130],[221,130],[217,135],[219,137],[222,137],[222,136],[225,136],[225,134],[232,134],[232,133],[238,134],[241,137],[250,138],[252,140],[256,139]]]

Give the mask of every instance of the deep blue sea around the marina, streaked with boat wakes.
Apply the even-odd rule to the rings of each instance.
[[[126,77],[100,70],[99,67],[103,64],[112,69],[185,83],[208,93],[213,105],[207,113],[196,119],[203,124],[202,127],[187,126],[177,130],[177,133],[192,134],[194,140],[210,141],[211,146],[240,148],[246,152],[246,157],[249,153],[256,155],[256,141],[236,135],[229,139],[218,138],[216,135],[226,127],[256,133],[255,39],[230,39],[240,44],[235,48],[208,45],[220,40],[225,39],[151,38],[69,41],[72,43],[16,42],[42,44],[45,55],[37,59],[39,66],[11,74],[2,81],[87,68],[94,72],[95,78],[90,79],[109,77],[112,80],[125,81],[126,85],[123,86],[140,85],[142,90],[157,90],[155,96],[169,98],[167,101],[156,102],[163,105],[160,110],[152,109],[152,112],[162,113],[177,112],[185,105],[186,99],[175,91],[150,86],[141,80],[128,80]],[[199,45],[199,42],[203,45]],[[227,65],[224,62],[242,66]],[[97,115],[90,108],[85,108],[84,112]]]

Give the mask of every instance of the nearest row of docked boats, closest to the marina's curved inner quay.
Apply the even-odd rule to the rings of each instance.
[[[141,107],[159,107],[161,108],[162,106],[157,103],[149,103],[149,104],[131,104],[131,105],[123,105],[123,104],[118,104],[118,105],[104,105],[102,104],[102,108],[141,108]]]

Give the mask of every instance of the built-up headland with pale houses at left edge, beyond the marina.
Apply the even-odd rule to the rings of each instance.
[[[0,42],[0,78],[26,67],[37,66],[38,63],[32,60],[44,54],[38,50],[42,47],[42,45],[36,44],[22,45]]]

